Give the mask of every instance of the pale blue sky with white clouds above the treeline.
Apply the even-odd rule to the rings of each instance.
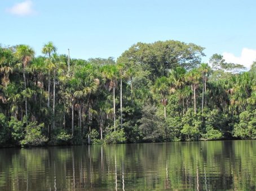
[[[0,0],[0,44],[52,41],[72,58],[118,58],[137,42],[179,40],[227,62],[256,60],[255,0]]]

